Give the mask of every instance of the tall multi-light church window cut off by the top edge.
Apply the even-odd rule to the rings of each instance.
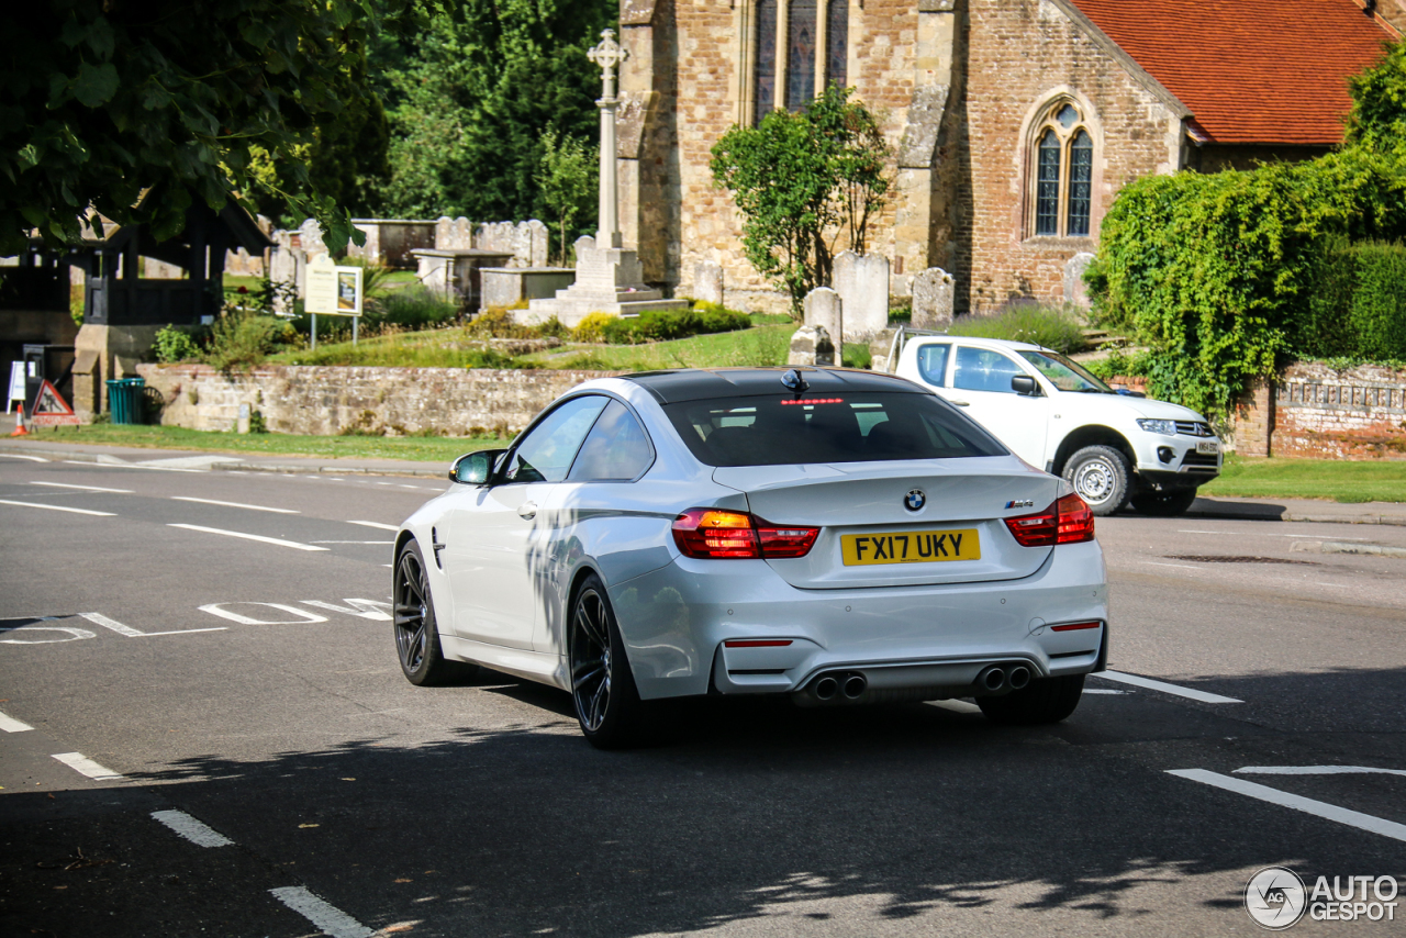
[[[752,124],[775,108],[801,110],[827,84],[848,84],[849,1],[752,0],[744,31]]]

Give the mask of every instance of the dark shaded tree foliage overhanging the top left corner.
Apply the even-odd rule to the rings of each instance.
[[[193,198],[252,204],[259,153],[328,246],[349,214],[305,158],[346,110],[367,37],[412,0],[35,0],[0,31],[0,253],[73,242],[96,208],[173,235]],[[270,169],[271,167],[271,169]],[[141,200],[146,190],[155,198]],[[360,240],[360,238],[359,238]]]

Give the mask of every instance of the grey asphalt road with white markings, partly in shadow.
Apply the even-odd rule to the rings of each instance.
[[[1057,727],[725,700],[609,754],[401,676],[387,527],[443,484],[180,468],[0,458],[6,938],[1253,935],[1264,866],[1406,879],[1406,560],[1294,548],[1406,529],[1099,520]]]

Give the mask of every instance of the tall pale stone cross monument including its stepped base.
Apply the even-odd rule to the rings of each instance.
[[[558,290],[550,300],[533,300],[526,322],[557,316],[575,326],[592,312],[633,316],[647,309],[686,309],[683,300],[665,300],[664,293],[644,283],[640,255],[626,250],[620,239],[620,207],[616,183],[616,69],[628,58],[614,41],[614,30],[600,34],[600,45],[586,53],[600,66],[600,219],[596,236],[576,240],[576,283]]]

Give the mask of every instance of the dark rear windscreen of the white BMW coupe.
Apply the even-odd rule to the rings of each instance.
[[[877,463],[1005,456],[995,437],[928,394],[808,394],[668,404],[707,465]]]

